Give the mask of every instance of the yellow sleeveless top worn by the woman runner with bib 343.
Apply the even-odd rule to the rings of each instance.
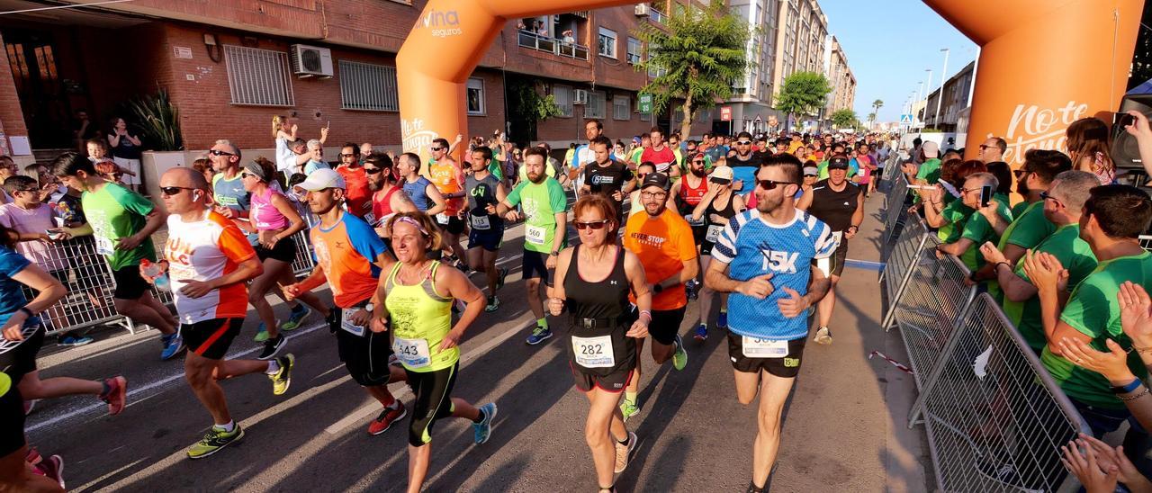
[[[452,298],[441,296],[432,280],[440,267],[432,263],[432,270],[419,285],[404,286],[396,282],[400,263],[392,267],[385,281],[392,331],[395,335],[393,350],[406,369],[416,372],[432,372],[452,367],[460,359],[460,348],[440,349],[440,341],[452,331]]]

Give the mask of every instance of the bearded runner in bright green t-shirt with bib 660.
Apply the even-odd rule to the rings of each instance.
[[[540,297],[540,279],[551,282],[550,270],[556,268],[556,256],[568,240],[568,196],[560,182],[545,173],[547,156],[539,147],[524,151],[524,168],[528,180],[522,181],[497,206],[497,213],[511,221],[524,218],[524,257],[522,276],[528,289],[528,306],[536,316],[536,326],[528,337],[529,344],[538,344],[552,336],[548,319],[544,316]],[[516,212],[521,205],[523,214]]]

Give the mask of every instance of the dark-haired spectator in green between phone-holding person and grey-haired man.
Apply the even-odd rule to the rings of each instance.
[[[1008,265],[1015,266],[1025,250],[1034,248],[1056,230],[1056,225],[1045,218],[1041,194],[1048,190],[1056,175],[1071,168],[1073,161],[1063,152],[1032,149],[1024,153],[1024,166],[1015,170],[1016,192],[1024,197],[1024,202],[1021,203],[1023,207],[1013,207],[1013,221],[1005,222],[992,207],[978,211],[1000,235],[996,249],[1003,252]],[[988,294],[996,301],[1003,301],[995,278],[992,264],[986,264],[973,276],[978,281],[990,280]]]

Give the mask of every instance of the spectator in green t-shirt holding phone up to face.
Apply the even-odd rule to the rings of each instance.
[[[1008,208],[1008,197],[995,194],[999,180],[991,173],[975,173],[964,180],[964,188],[960,189],[960,198],[964,205],[980,210],[983,207],[995,206],[999,214],[1006,222],[1011,222],[1011,210]],[[970,272],[977,272],[984,266],[985,259],[977,251],[985,242],[996,243],[1000,235],[988,222],[984,214],[972,214],[964,222],[964,230],[960,238],[937,246],[941,253],[960,257]]]

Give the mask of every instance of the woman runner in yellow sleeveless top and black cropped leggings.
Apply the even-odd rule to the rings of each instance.
[[[380,299],[385,309],[377,312],[373,332],[392,321],[396,357],[408,373],[408,386],[415,394],[412,417],[408,428],[408,491],[419,492],[427,476],[432,450],[432,425],[449,416],[468,418],[475,428],[476,443],[484,443],[492,432],[497,404],[476,408],[463,399],[450,397],[460,371],[460,344],[464,329],[484,310],[484,293],[455,268],[440,268],[429,260],[429,250],[440,248],[440,230],[422,212],[401,212],[388,220],[392,248],[397,261],[380,278]],[[452,304],[462,299],[467,309],[456,325],[452,324]]]

